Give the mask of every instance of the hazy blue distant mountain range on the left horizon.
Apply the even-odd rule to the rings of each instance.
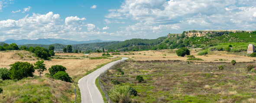
[[[65,44],[65,45],[72,45],[72,44],[83,44],[83,43],[94,43],[94,42],[112,42],[113,40],[108,40],[108,41],[103,41],[100,39],[95,39],[95,40],[88,40],[88,41],[71,41],[71,40],[65,40],[65,39],[20,39],[20,40],[15,40],[15,39],[7,39],[5,43],[11,44],[11,43],[16,43],[17,45],[24,45],[24,44]]]

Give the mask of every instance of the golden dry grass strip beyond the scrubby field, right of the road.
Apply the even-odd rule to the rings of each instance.
[[[187,61],[188,58],[185,57],[178,57],[176,55],[176,50],[158,50],[158,51],[130,51],[130,52],[120,52],[121,55],[114,55],[114,56],[121,56],[121,57],[129,57],[135,61],[166,61],[166,60],[181,60]],[[198,56],[198,52],[200,50],[195,51],[194,49],[190,49],[191,55],[194,55],[195,58],[201,58],[204,61],[200,62],[220,62],[214,60],[227,60],[221,62],[231,62],[232,60],[236,60],[237,62],[250,62],[256,60],[256,58],[246,57],[241,55],[229,54],[226,51],[213,51],[213,55],[202,55]],[[123,54],[133,54],[134,55],[123,55]],[[92,53],[93,55],[100,56],[102,53]],[[110,53],[112,54],[112,53]],[[145,55],[144,55],[145,54]],[[166,56],[165,56],[166,55]]]

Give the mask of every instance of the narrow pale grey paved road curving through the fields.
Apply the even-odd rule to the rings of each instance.
[[[104,103],[100,91],[95,85],[95,80],[98,76],[100,76],[100,73],[103,73],[109,67],[126,59],[128,58],[122,58],[121,60],[113,61],[88,74],[87,76],[84,76],[83,78],[79,79],[78,86],[80,88],[81,93],[81,103]]]

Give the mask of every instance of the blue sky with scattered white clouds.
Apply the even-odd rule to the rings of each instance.
[[[0,41],[155,39],[186,30],[256,30],[255,0],[0,0]]]

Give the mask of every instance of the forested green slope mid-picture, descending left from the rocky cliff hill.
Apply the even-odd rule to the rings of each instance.
[[[159,37],[157,39],[129,39],[114,45],[106,46],[105,48],[108,50],[113,49],[119,51],[151,50],[165,39],[167,39],[167,37]]]

